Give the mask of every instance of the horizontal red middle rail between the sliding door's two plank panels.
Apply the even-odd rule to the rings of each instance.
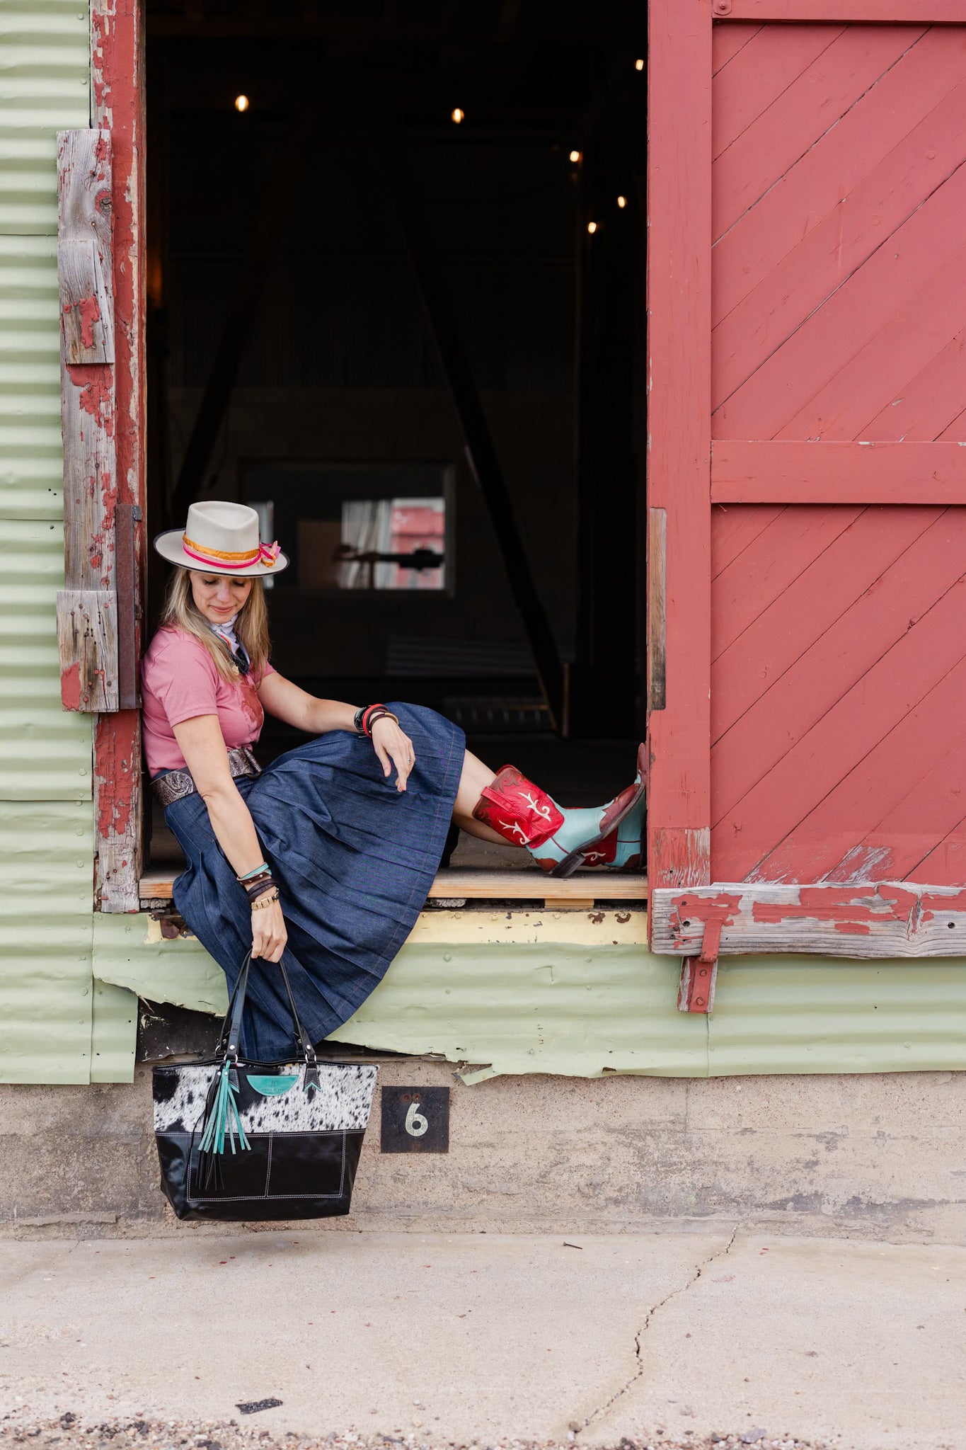
[[[711,497],[715,503],[966,503],[966,448],[715,439]]]

